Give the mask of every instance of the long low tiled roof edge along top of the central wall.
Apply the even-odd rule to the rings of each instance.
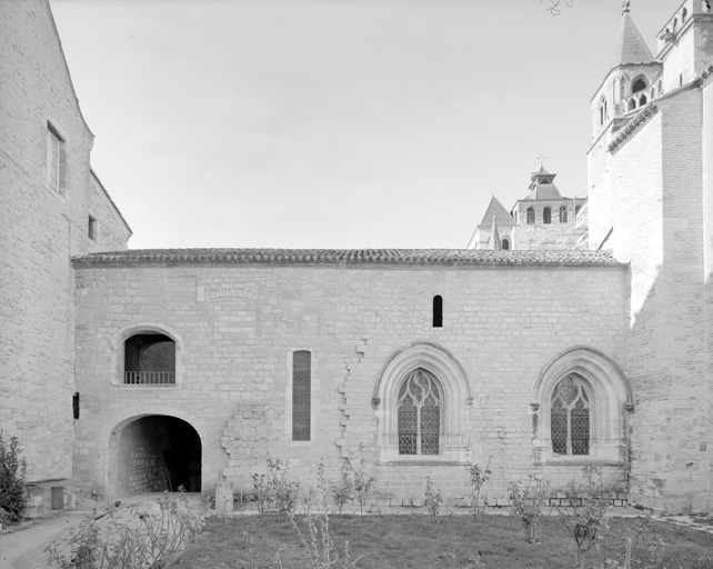
[[[623,267],[601,251],[466,249],[137,249],[74,257],[76,268],[172,266]]]

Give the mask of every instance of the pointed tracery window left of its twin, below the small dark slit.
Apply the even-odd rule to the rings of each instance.
[[[441,387],[419,368],[399,389],[399,455],[438,455],[441,439]]]

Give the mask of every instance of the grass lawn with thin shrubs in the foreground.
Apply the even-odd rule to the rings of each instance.
[[[439,521],[432,523],[424,515],[332,516],[330,532],[340,559],[331,567],[344,567],[347,540],[349,567],[359,558],[354,567],[361,569],[571,569],[575,563],[574,541],[554,518],[542,519],[534,545],[525,543],[519,520],[509,516],[485,516],[480,521],[443,516]],[[304,518],[298,517],[298,522],[309,539]],[[610,518],[607,525],[602,543],[609,559],[623,561],[624,540],[631,537],[633,568],[713,569],[713,535],[709,532],[645,518]],[[305,551],[294,527],[274,516],[213,517],[175,567],[311,568]],[[603,559],[601,548],[592,549],[586,567],[602,568]]]

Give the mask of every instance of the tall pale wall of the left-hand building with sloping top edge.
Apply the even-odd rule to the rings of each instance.
[[[49,3],[0,2],[0,426],[17,436],[28,480],[69,478],[74,392],[73,254],[86,253],[90,210],[125,248],[116,209],[90,208],[93,136],[84,123]],[[64,184],[48,182],[51,124],[63,140]]]

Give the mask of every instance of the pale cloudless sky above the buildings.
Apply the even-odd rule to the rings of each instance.
[[[563,1],[564,3],[564,1]],[[655,33],[677,0],[634,0]],[[586,193],[620,0],[51,0],[130,247],[463,248]]]

